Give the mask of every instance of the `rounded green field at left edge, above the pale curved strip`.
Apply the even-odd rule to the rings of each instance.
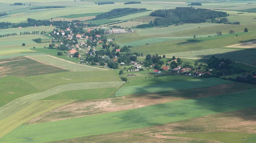
[[[0,88],[0,107],[19,97],[41,91],[19,77],[2,77],[0,85],[3,87]]]

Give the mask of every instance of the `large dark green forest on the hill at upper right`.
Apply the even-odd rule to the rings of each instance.
[[[203,23],[207,20],[227,17],[227,12],[214,11],[209,9],[195,9],[193,7],[177,7],[176,9],[160,9],[152,12],[150,16],[163,17],[156,18],[154,23],[143,24],[137,28],[153,26],[169,26],[177,23]]]

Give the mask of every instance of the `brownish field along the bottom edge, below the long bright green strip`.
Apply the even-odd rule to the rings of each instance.
[[[166,137],[161,134],[178,134],[192,132],[245,132],[256,133],[256,108],[235,112],[213,114],[204,117],[166,123],[141,129],[99,134],[59,140],[51,143],[217,143],[212,140],[200,140],[185,137]],[[138,142],[138,140],[140,140]],[[218,142],[219,143],[219,142]]]

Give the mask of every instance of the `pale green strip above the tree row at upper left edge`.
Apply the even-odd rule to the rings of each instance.
[[[26,27],[26,28],[11,28],[11,29],[0,29],[0,34],[11,34],[11,33],[17,33],[20,34],[20,32],[32,32],[32,31],[52,31],[55,29],[55,26],[37,26],[37,27]]]

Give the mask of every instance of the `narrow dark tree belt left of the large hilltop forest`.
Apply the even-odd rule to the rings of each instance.
[[[143,11],[147,11],[147,9],[137,9],[137,8],[112,9],[109,12],[97,15],[93,20],[112,19],[116,17],[122,17],[128,14],[143,12]]]

